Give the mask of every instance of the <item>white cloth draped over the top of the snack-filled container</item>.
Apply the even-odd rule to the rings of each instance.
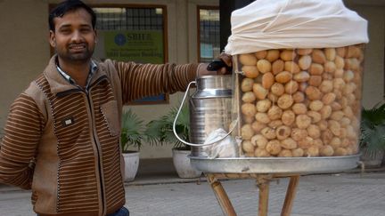
[[[256,0],[232,12],[231,55],[368,43],[367,21],[341,0]]]

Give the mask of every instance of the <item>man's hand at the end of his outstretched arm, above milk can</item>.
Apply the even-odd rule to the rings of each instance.
[[[232,56],[222,52],[217,60],[213,60],[211,63],[201,63],[198,67],[197,75],[225,75],[232,72]]]

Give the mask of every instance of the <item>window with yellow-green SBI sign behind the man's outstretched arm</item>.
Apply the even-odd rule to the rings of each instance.
[[[164,6],[95,6],[98,43],[94,57],[104,60],[161,64],[168,61]],[[167,103],[168,94],[131,104]]]

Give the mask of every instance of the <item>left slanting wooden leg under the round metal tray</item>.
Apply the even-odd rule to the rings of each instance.
[[[214,177],[213,174],[207,174],[209,184],[214,190],[214,194],[217,197],[217,201],[222,208],[222,212],[226,216],[236,216],[235,210],[233,209],[233,204],[231,204],[230,199],[225,193],[225,189],[222,187],[222,184]]]

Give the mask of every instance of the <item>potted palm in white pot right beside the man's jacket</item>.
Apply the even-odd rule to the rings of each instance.
[[[139,167],[139,150],[143,141],[143,120],[131,109],[122,113],[120,144],[125,161],[125,181],[135,179]]]

